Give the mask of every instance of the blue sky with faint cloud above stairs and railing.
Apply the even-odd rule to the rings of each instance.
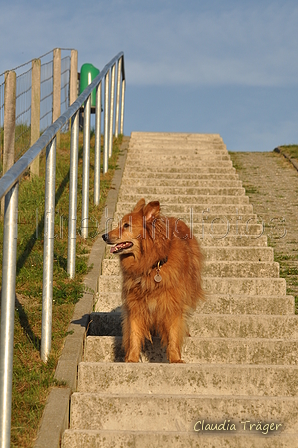
[[[99,69],[124,51],[126,135],[214,132],[232,151],[298,143],[296,0],[0,6],[0,73],[55,47]]]

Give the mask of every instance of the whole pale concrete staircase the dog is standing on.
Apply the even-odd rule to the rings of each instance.
[[[220,136],[132,133],[115,220],[142,197],[193,222],[207,300],[185,364],[168,364],[158,339],[126,364],[119,263],[107,250],[63,448],[298,447],[294,298]]]

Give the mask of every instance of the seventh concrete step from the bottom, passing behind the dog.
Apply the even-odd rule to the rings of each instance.
[[[203,288],[207,294],[245,294],[263,295],[286,294],[286,282],[283,278],[203,278]],[[119,292],[121,278],[118,275],[102,275],[98,280],[98,290]]]

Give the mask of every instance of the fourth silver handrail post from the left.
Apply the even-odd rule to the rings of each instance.
[[[81,235],[85,239],[88,238],[88,218],[89,218],[90,113],[91,113],[91,94],[88,96],[84,104]]]

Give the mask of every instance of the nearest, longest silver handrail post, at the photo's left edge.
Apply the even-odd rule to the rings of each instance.
[[[18,190],[16,183],[5,196],[1,291],[0,440],[10,447],[14,309],[17,258]]]

